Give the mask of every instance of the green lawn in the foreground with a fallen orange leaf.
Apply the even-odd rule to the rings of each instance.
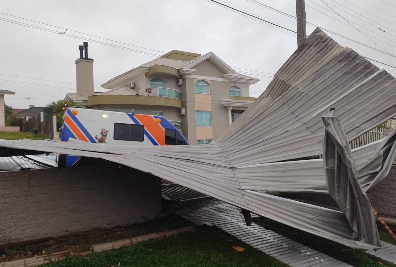
[[[244,247],[245,251],[238,252],[232,246]],[[163,239],[152,239],[110,251],[93,252],[88,258],[70,256],[43,266],[94,267],[105,265],[133,267],[286,267],[279,261],[217,228],[207,228]]]

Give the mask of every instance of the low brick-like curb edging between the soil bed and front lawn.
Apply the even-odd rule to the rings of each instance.
[[[175,230],[168,230],[164,232],[158,232],[158,233],[153,233],[149,235],[142,235],[139,237],[132,237],[130,239],[122,239],[118,241],[112,241],[108,243],[102,243],[102,244],[95,244],[91,246],[92,251],[103,251],[103,250],[112,250],[114,248],[120,248],[122,246],[131,246],[133,244],[139,243],[139,242],[144,242],[148,241],[150,239],[158,239],[162,237],[170,237],[173,235],[177,235],[179,233],[187,233],[187,232],[193,232],[196,230],[195,226],[188,226],[188,227],[183,227]],[[91,254],[91,251],[84,252],[81,254],[78,254],[80,256],[87,256]],[[6,261],[0,263],[0,267],[34,267],[37,265],[42,265],[44,263],[48,263],[49,261],[58,261],[60,259],[66,258],[66,256],[73,255],[74,253],[72,251],[62,251],[62,252],[56,252],[52,253],[49,255],[43,255],[43,256],[36,256],[32,258],[25,258],[25,259],[17,259],[15,261]]]

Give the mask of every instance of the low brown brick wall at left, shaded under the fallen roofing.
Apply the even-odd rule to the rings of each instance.
[[[134,169],[0,172],[0,244],[133,224],[160,212],[160,179]]]

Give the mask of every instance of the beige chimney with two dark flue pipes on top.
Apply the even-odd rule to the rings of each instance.
[[[82,97],[93,95],[93,59],[88,58],[88,42],[79,45],[80,58],[76,64],[76,89],[77,94]],[[83,55],[83,52],[85,55]]]

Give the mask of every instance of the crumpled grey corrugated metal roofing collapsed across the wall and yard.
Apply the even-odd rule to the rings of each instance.
[[[327,114],[330,108],[337,117]],[[365,191],[388,173],[395,134],[354,150],[348,141],[395,115],[396,79],[317,28],[267,90],[210,144],[125,147],[0,140],[0,147],[103,158],[346,246],[372,250],[380,245]],[[319,154],[323,160],[301,160]],[[265,191],[330,194],[341,211]]]

